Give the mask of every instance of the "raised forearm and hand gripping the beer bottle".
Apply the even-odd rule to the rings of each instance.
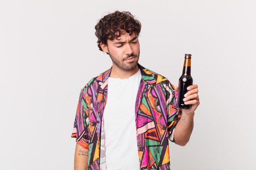
[[[175,91],[178,91],[178,87],[175,87]],[[189,142],[189,138],[191,136],[193,126],[194,126],[194,115],[195,110],[200,104],[198,97],[198,85],[192,85],[188,87],[188,92],[184,98],[185,104],[191,104],[190,109],[182,110],[181,120],[178,121],[175,130],[174,130],[174,139],[175,143],[180,146],[185,146]]]

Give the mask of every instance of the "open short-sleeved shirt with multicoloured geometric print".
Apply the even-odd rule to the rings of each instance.
[[[182,110],[177,107],[177,93],[169,80],[138,63],[141,81],[135,105],[137,147],[141,170],[169,170],[168,139]],[[88,170],[106,169],[103,111],[106,106],[108,77],[112,67],[92,78],[81,89],[71,137],[89,149]]]

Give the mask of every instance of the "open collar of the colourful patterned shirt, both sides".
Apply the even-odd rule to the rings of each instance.
[[[161,75],[159,77],[159,74],[150,71],[149,69],[141,66],[139,63],[137,65],[141,72],[141,83],[144,82],[146,84],[149,84],[150,86],[153,86],[153,84],[159,82],[160,79],[164,80]],[[104,71],[103,73],[99,74],[98,77],[94,80],[94,82],[101,82],[101,84],[107,84],[111,70],[112,66],[107,71]]]

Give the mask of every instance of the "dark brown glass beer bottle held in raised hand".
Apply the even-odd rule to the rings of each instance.
[[[184,67],[182,75],[179,79],[178,107],[181,109],[189,109],[191,104],[184,104],[184,95],[187,93],[187,87],[193,84],[191,73],[191,54],[185,54]]]

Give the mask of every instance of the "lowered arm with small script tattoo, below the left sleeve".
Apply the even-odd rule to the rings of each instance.
[[[76,143],[74,170],[87,170],[88,149]]]

